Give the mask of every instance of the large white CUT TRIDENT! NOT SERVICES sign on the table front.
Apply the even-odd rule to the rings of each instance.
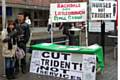
[[[96,56],[34,50],[30,72],[71,80],[95,80]]]

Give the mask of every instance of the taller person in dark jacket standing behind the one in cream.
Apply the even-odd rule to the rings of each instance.
[[[24,50],[26,53],[26,44],[29,41],[30,37],[30,29],[29,25],[25,23],[25,16],[23,13],[19,13],[17,15],[16,22],[16,30],[17,30],[17,46]],[[26,72],[26,56],[21,59],[21,70],[22,73]],[[15,72],[19,72],[19,59],[16,58],[15,62]]]

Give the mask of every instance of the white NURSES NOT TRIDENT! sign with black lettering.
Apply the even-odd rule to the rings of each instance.
[[[115,1],[91,1],[91,20],[116,20]]]

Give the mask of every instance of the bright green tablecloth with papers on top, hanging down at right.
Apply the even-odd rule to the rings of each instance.
[[[66,53],[75,53],[75,54],[90,54],[96,55],[97,57],[97,67],[99,66],[101,71],[104,70],[104,60],[103,60],[103,50],[102,47],[94,44],[91,46],[67,46],[67,45],[58,45],[54,43],[41,43],[32,45],[33,50],[44,50],[44,51],[53,51],[53,52],[66,52]]]

